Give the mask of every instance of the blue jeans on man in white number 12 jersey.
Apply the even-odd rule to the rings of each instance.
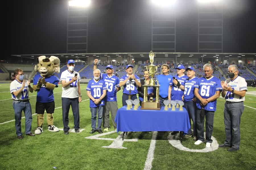
[[[26,134],[31,133],[31,123],[32,123],[32,112],[31,112],[31,105],[29,101],[13,101],[13,109],[15,113],[15,128],[17,136],[22,135],[21,132],[21,112],[24,111],[25,114],[25,130]]]

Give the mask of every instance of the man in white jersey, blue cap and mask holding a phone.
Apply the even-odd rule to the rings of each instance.
[[[81,90],[80,90],[80,75],[74,71],[75,61],[70,59],[67,63],[68,69],[61,73],[61,84],[62,84],[62,119],[64,125],[64,134],[69,134],[69,109],[72,107],[74,116],[74,129],[76,133],[79,133],[79,102],[82,101]]]

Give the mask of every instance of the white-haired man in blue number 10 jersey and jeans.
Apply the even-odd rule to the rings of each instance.
[[[100,70],[95,69],[93,71],[94,78],[88,82],[86,87],[87,95],[90,98],[90,110],[92,114],[92,130],[90,133],[98,131],[102,133],[101,124],[102,124],[102,113],[104,106],[104,97],[107,94],[107,87],[104,80],[100,79]],[[98,124],[96,127],[96,117],[98,112]]]

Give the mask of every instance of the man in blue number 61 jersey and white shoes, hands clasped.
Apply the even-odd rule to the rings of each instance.
[[[203,66],[205,77],[201,77],[195,83],[194,94],[197,97],[197,141],[195,145],[200,145],[204,139],[204,122],[206,118],[206,147],[211,147],[213,118],[216,111],[217,98],[222,91],[220,79],[212,75],[213,68],[211,64]]]

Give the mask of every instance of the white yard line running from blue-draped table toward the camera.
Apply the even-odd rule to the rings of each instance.
[[[154,150],[156,147],[156,136],[157,136],[157,131],[154,131],[152,134],[152,139],[148,149],[148,156],[144,165],[144,170],[150,170],[152,168],[152,162],[154,159]]]

